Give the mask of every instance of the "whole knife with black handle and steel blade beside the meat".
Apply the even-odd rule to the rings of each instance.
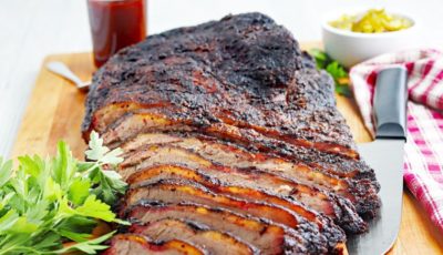
[[[369,232],[348,239],[349,254],[384,254],[400,230],[403,200],[403,154],[406,140],[406,70],[402,67],[378,73],[373,99],[375,140],[359,144],[360,156],[375,172],[381,208],[369,222]]]

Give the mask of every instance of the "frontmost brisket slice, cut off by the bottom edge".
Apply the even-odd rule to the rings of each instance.
[[[104,255],[204,255],[204,251],[179,239],[164,243],[150,242],[145,236],[137,234],[119,234],[111,239],[111,246]]]

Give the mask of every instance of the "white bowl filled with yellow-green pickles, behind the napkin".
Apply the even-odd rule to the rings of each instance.
[[[346,68],[377,55],[416,48],[418,22],[395,10],[337,10],[323,17],[326,52]]]

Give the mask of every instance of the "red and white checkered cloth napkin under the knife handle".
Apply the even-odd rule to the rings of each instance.
[[[379,70],[408,70],[408,143],[404,182],[443,232],[443,52],[425,49],[388,53],[351,69],[353,93],[373,133],[372,95]]]

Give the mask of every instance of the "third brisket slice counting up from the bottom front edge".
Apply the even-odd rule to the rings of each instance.
[[[229,233],[257,247],[260,254],[315,254],[300,242],[300,237],[288,234],[279,225],[262,218],[239,215],[227,210],[202,205],[156,205],[141,203],[128,210],[127,217],[137,224],[150,224],[164,218],[204,224],[212,230]],[[227,249],[228,251],[228,249]],[[317,251],[324,254],[324,251]]]

